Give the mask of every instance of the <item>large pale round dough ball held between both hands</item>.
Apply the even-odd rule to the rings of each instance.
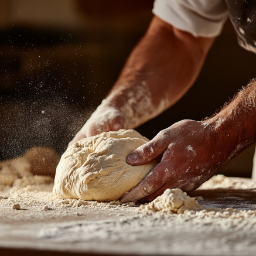
[[[81,139],[62,155],[53,193],[60,199],[110,202],[143,180],[157,161],[131,166],[126,157],[149,140],[134,130]]]

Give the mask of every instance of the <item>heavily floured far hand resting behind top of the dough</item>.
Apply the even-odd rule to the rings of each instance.
[[[77,132],[73,140],[69,142],[69,146],[80,141],[80,139],[101,134],[101,132],[119,131],[120,129],[126,129],[126,127],[124,115],[120,110],[107,104],[101,104],[86,124]]]

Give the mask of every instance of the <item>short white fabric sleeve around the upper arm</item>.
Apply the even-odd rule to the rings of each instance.
[[[153,14],[195,37],[219,36],[228,17],[224,0],[155,0]]]

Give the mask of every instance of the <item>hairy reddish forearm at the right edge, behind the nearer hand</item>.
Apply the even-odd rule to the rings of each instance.
[[[235,158],[256,143],[256,80],[243,87],[218,114],[203,122],[217,141],[219,165]]]

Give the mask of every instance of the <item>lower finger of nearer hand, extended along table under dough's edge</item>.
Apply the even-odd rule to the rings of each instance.
[[[153,169],[144,180],[121,199],[121,203],[139,201],[158,190],[159,187],[162,187],[168,176],[168,172],[166,172],[164,166],[163,163],[156,165],[155,169]]]

